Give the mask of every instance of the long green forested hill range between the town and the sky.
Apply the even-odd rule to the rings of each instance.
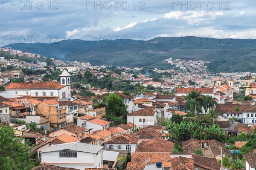
[[[211,61],[211,72],[256,72],[256,39],[156,37],[147,41],[62,40],[57,43],[15,43],[12,49],[64,61],[94,65],[143,66],[168,69],[167,58]],[[7,47],[4,46],[4,47]]]

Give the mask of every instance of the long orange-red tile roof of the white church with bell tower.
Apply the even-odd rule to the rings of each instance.
[[[61,89],[67,85],[61,85],[55,81],[37,81],[35,83],[10,83],[6,89]]]

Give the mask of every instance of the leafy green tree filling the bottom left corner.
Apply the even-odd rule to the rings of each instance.
[[[35,164],[29,160],[29,150],[11,127],[0,126],[0,170],[30,170]]]

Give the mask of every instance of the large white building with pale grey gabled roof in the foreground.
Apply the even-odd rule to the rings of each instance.
[[[57,144],[41,152],[41,163],[60,167],[84,168],[103,167],[103,147],[80,142]]]

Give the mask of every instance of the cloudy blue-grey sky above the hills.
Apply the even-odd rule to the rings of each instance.
[[[255,0],[0,0],[0,46],[195,35],[256,38]]]

